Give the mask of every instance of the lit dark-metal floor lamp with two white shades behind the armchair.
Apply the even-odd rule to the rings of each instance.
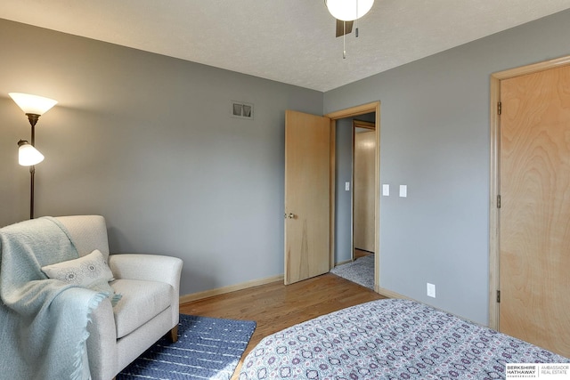
[[[43,96],[30,95],[28,93],[8,93],[13,101],[28,116],[29,124],[32,126],[31,141],[18,141],[18,163],[21,166],[29,166],[30,186],[29,186],[29,219],[34,219],[34,175],[36,174],[36,164],[44,160],[44,155],[35,148],[36,123],[40,116],[50,110],[57,101],[44,98]]]

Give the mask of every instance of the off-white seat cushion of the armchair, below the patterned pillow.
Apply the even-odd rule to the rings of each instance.
[[[132,333],[170,306],[174,289],[166,282],[116,279],[110,283],[123,295],[113,308],[117,338]]]

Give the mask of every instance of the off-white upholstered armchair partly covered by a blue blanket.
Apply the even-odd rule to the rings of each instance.
[[[80,256],[98,249],[109,255],[105,220],[99,215],[57,218],[69,230]],[[121,300],[105,299],[92,312],[87,327],[87,356],[94,380],[110,380],[170,332],[177,338],[182,260],[162,255],[109,255]]]

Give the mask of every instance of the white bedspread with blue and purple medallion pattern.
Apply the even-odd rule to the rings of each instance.
[[[507,363],[570,360],[425,304],[362,303],[266,336],[240,380],[496,379]]]

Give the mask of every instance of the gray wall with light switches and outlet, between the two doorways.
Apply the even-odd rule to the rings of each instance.
[[[489,77],[570,54],[568,36],[560,12],[324,94],[325,113],[381,101],[381,287],[488,322]]]

